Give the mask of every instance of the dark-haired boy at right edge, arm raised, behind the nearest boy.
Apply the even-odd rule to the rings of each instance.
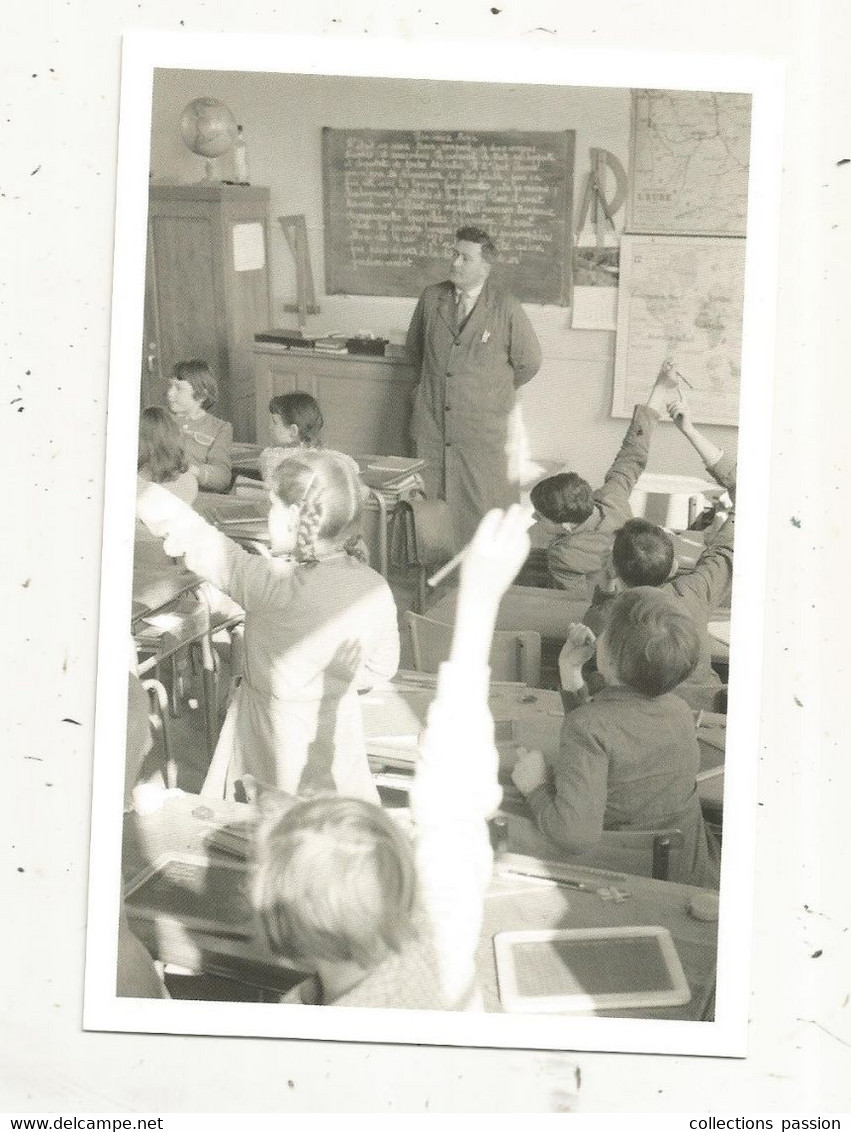
[[[671,417],[682,435],[700,454],[706,466],[722,487],[736,492],[736,462],[704,437],[691,420],[685,400],[670,408]],[[585,616],[595,634],[607,624],[613,598],[631,586],[659,586],[672,598],[695,623],[700,641],[697,666],[684,681],[679,694],[694,707],[715,707],[721,678],[712,668],[712,640],[706,629],[713,610],[730,594],[733,573],[734,521],[731,514],[723,525],[706,539],[706,546],[693,569],[676,573],[676,557],[670,534],[644,518],[630,518],[614,535],[611,552],[611,576],[599,585]]]

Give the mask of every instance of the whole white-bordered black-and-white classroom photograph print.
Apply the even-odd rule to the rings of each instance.
[[[741,1055],[760,75],[155,61],[122,93],[122,900],[87,1024]],[[588,228],[627,249],[614,333],[571,325]]]

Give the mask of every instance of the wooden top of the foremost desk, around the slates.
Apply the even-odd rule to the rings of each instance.
[[[239,803],[212,801],[195,795],[167,799],[162,811],[129,814],[124,822],[123,874],[138,875],[165,852],[194,852],[210,859],[205,837],[215,827],[250,818],[251,809]],[[607,874],[600,874],[601,885]],[[611,882],[609,882],[611,883]],[[702,924],[686,912],[686,902],[697,890],[686,885],[628,877],[618,881],[629,893],[622,903],[602,900],[595,892],[542,887],[516,876],[495,876],[484,906],[484,924],[478,951],[479,978],[485,1010],[500,1011],[492,938],[498,932],[547,927],[602,927],[655,924],[674,938],[691,1002],[665,1010],[624,1012],[626,1017],[699,1019],[712,997],[716,955],[716,925]],[[251,938],[223,938],[190,931],[174,920],[131,917],[134,931],[155,958],[194,971],[222,975],[269,989],[285,990],[300,976],[272,955],[259,933]],[[620,1015],[621,1012],[617,1012]],[[607,1011],[607,1017],[616,1012]]]

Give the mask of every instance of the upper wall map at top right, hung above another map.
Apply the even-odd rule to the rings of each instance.
[[[633,92],[627,231],[745,235],[749,94]]]

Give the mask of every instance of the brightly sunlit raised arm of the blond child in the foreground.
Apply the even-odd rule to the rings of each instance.
[[[452,652],[438,676],[411,809],[420,892],[445,1002],[470,1004],[492,854],[485,820],[501,798],[488,685],[499,601],[528,554],[519,507],[482,520],[462,566]]]

